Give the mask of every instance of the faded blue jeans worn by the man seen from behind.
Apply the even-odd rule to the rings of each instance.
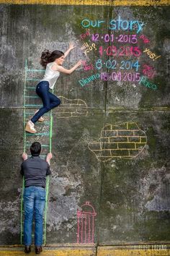
[[[24,245],[32,244],[33,214],[35,214],[35,246],[42,245],[44,206],[44,188],[35,186],[24,188]]]

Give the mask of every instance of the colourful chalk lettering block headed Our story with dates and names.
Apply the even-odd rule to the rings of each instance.
[[[151,40],[146,35],[140,35],[140,33],[143,33],[145,25],[145,22],[127,20],[120,15],[118,15],[117,20],[116,18],[109,20],[109,23],[108,20],[91,20],[88,18],[81,20],[81,27],[86,29],[80,35],[81,51],[85,54],[85,58],[88,57],[85,61],[89,61],[89,57],[91,54],[94,56],[95,51],[99,54],[97,54],[98,58],[102,56],[102,59],[91,59],[90,64],[84,64],[86,73],[91,69],[94,69],[94,71],[97,69],[99,72],[97,76],[99,75],[102,81],[109,81],[109,85],[112,85],[113,81],[133,82],[133,84],[144,85],[148,90],[157,90],[158,85],[155,85],[153,80],[156,76],[156,69],[153,65],[154,61],[160,61],[161,55],[158,56],[151,49],[151,46],[149,46]],[[94,32],[94,27],[98,31],[95,30]],[[103,30],[101,31],[101,28],[105,28],[105,33],[103,33]],[[90,33],[89,29],[91,29]],[[129,34],[130,31],[133,34]],[[82,40],[84,40],[83,44]],[[150,65],[149,62],[140,63],[142,54],[147,62],[152,59],[153,64]],[[84,87],[84,85],[88,85],[96,79],[97,77],[95,76],[96,74],[94,73],[91,76],[86,76],[85,79],[82,77],[78,82],[81,87]],[[153,82],[150,80],[153,80]]]

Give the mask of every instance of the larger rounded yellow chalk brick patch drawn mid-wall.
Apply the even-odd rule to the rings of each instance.
[[[97,160],[106,162],[112,158],[132,159],[145,148],[146,133],[135,122],[107,124],[103,127],[98,141],[89,142],[89,150]]]

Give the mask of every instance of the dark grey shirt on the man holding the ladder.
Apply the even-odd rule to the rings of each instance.
[[[25,187],[45,187],[45,176],[51,171],[49,164],[40,156],[32,156],[22,163],[20,173],[24,175]]]

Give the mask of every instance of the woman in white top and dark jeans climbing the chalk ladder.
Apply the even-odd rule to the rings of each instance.
[[[65,69],[62,67],[63,61],[69,52],[75,48],[73,43],[69,44],[69,48],[64,54],[63,51],[55,50],[50,52],[45,50],[42,52],[40,64],[42,67],[45,67],[45,75],[43,79],[37,84],[36,93],[42,99],[43,106],[38,111],[35,112],[35,115],[27,121],[25,131],[30,133],[36,133],[34,127],[36,121],[44,121],[42,115],[50,111],[50,109],[60,105],[61,100],[50,93],[49,89],[53,89],[55,82],[58,80],[60,72],[65,74],[71,74],[79,66],[81,66],[82,61],[78,61],[71,69]]]

